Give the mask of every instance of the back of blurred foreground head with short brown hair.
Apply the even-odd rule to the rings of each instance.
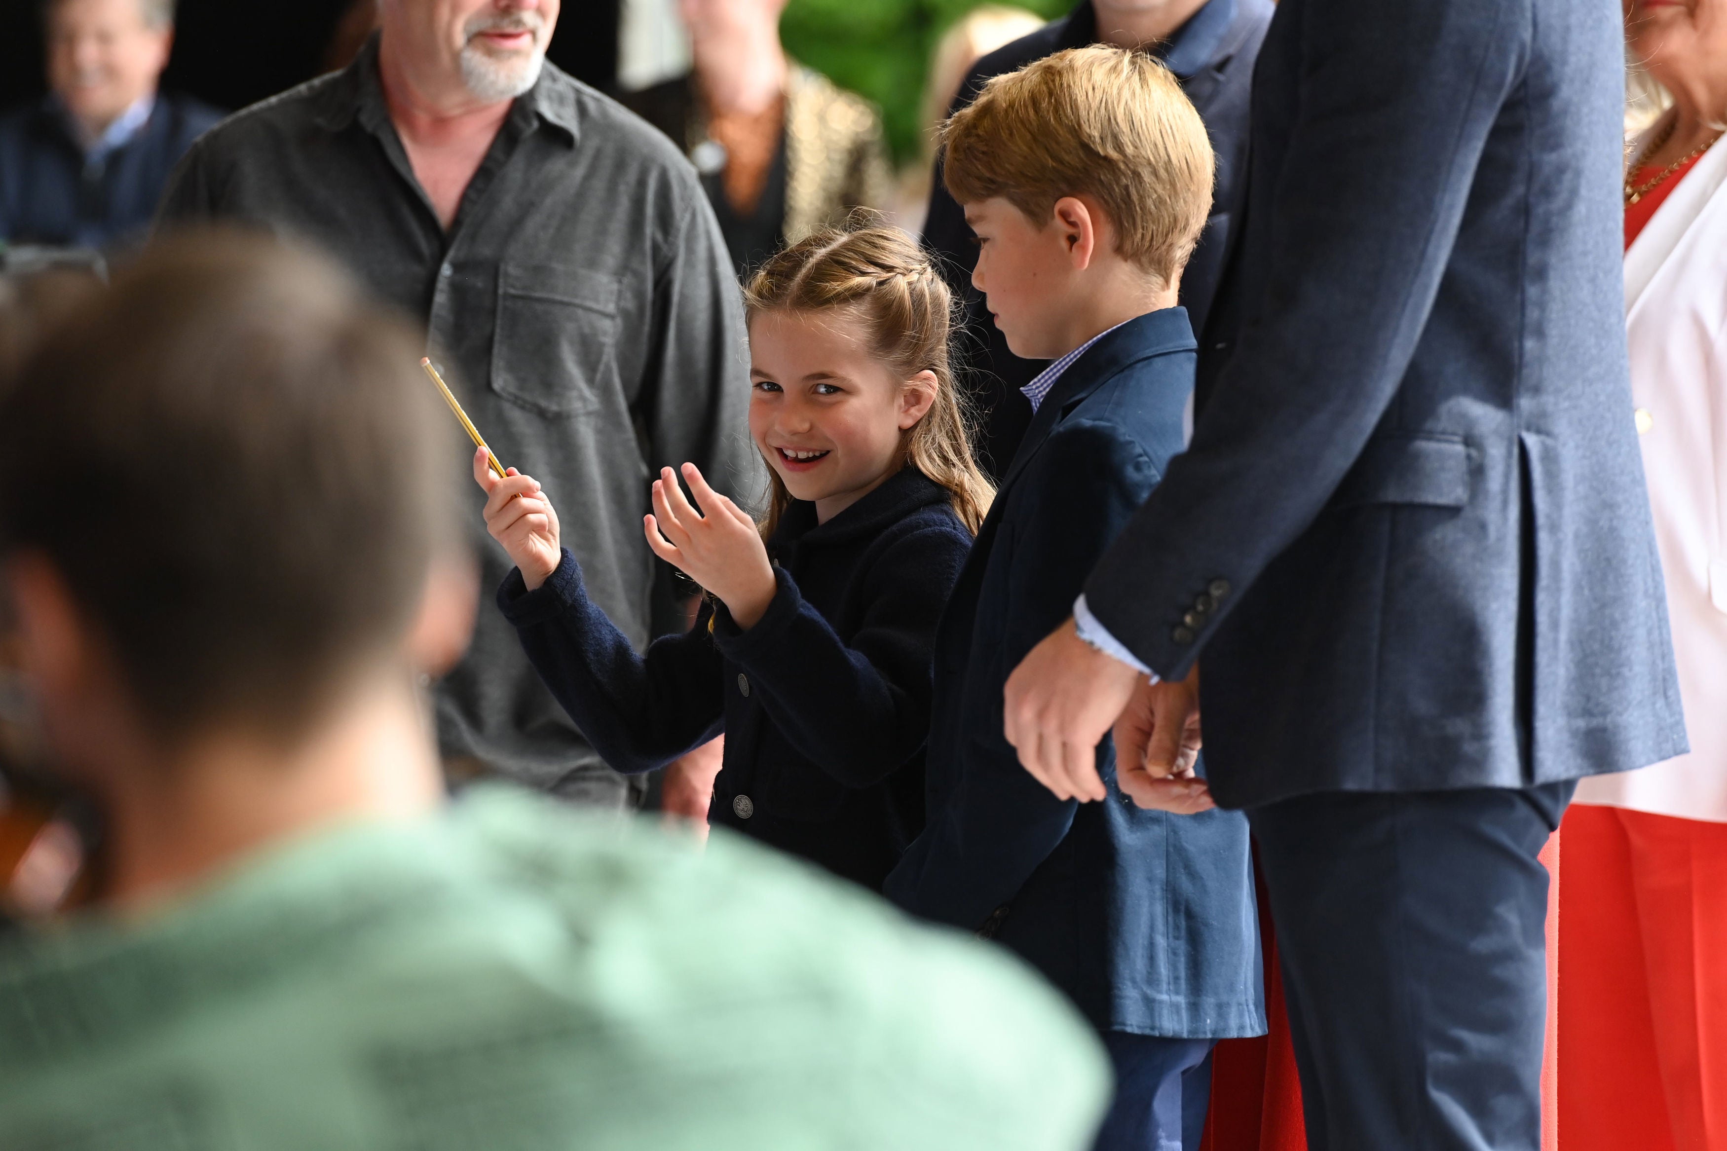
[[[142,792],[200,749],[292,759],[356,708],[418,716],[414,673],[471,623],[471,580],[435,576],[465,452],[420,345],[242,235],[157,243],[33,342],[0,397],[0,571],[69,775]]]

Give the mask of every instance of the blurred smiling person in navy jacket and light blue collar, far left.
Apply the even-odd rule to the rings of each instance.
[[[173,0],[48,0],[50,93],[0,117],[0,240],[142,240],[168,174],[221,114],[157,91]]]

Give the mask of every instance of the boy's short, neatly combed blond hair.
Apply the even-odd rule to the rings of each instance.
[[[1166,285],[1211,212],[1205,123],[1143,52],[1069,48],[996,76],[941,126],[941,152],[960,204],[1002,197],[1041,226],[1062,197],[1095,198],[1116,250]]]

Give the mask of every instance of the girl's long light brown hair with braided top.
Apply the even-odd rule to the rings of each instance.
[[[934,374],[936,402],[901,433],[905,462],[945,487],[960,523],[977,533],[995,485],[972,457],[971,419],[953,380],[953,297],[915,240],[864,219],[848,230],[819,231],[762,264],[744,288],[744,311],[751,321],[763,312],[843,311],[864,324],[874,355],[901,380]],[[793,500],[772,466],[769,485],[763,538],[774,535]]]

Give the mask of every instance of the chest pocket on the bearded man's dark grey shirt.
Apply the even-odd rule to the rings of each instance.
[[[618,278],[563,264],[506,262],[497,273],[492,390],[568,419],[618,397]]]

